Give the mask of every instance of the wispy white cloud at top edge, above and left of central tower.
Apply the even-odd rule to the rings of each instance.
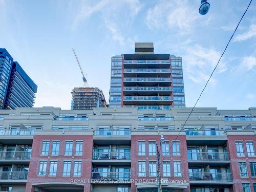
[[[110,1],[102,0],[95,5],[91,5],[93,1],[85,1],[81,5],[79,13],[73,23],[76,28],[84,20],[92,16],[99,16],[106,29],[111,33],[114,41],[120,46],[131,44],[131,37],[126,37],[127,29],[133,22],[134,17],[140,12],[142,4],[139,0]],[[120,17],[120,15],[122,15]],[[125,33],[122,33],[122,27],[125,26]]]

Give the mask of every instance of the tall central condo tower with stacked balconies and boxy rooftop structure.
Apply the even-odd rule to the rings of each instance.
[[[135,43],[135,54],[112,57],[110,107],[184,108],[182,59],[155,54],[153,43]]]

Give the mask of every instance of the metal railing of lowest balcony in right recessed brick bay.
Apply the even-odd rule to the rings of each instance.
[[[231,182],[231,173],[189,173],[189,181]]]

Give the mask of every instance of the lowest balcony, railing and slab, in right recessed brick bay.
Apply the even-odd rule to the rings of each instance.
[[[231,173],[189,173],[190,184],[233,184]]]

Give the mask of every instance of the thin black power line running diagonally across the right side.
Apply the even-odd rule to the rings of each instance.
[[[179,133],[178,133],[177,137],[175,138],[174,142],[178,139],[178,137],[179,137],[179,135],[180,135],[181,131],[184,129],[184,126],[185,126],[185,124],[186,124],[186,122],[187,122],[188,118],[190,117],[191,113],[194,111],[194,109],[195,109],[195,107],[196,107],[196,105],[197,105],[197,103],[198,103],[199,99],[201,98],[201,96],[202,96],[202,94],[203,94],[203,92],[204,92],[204,90],[205,90],[205,88],[206,88],[206,86],[207,86],[208,82],[209,82],[209,81],[210,81],[210,79],[211,79],[211,76],[214,74],[215,70],[217,69],[217,67],[218,67],[218,65],[219,65],[219,62],[220,62],[220,60],[221,60],[222,56],[223,56],[223,55],[224,55],[224,53],[226,52],[226,49],[227,49],[227,47],[228,47],[228,45],[229,45],[229,42],[230,42],[230,41],[231,41],[231,39],[233,38],[234,33],[236,33],[236,31],[237,31],[237,29],[238,29],[238,27],[239,27],[239,25],[240,25],[240,23],[241,23],[241,20],[243,19],[243,17],[244,17],[244,15],[245,15],[245,13],[247,12],[248,8],[250,7],[251,2],[252,2],[252,0],[250,0],[250,3],[249,3],[249,5],[248,5],[248,7],[246,8],[246,10],[245,10],[244,14],[242,15],[241,19],[239,20],[239,23],[238,23],[238,25],[237,25],[236,29],[234,30],[233,34],[232,34],[232,35],[231,35],[231,37],[229,38],[229,41],[228,41],[228,43],[227,43],[227,45],[226,45],[226,47],[225,47],[225,49],[224,49],[223,53],[221,54],[221,56],[220,56],[220,58],[219,58],[219,60],[218,60],[218,62],[217,62],[217,65],[215,66],[214,70],[211,72],[210,77],[208,78],[208,80],[207,80],[207,82],[206,82],[206,84],[205,84],[205,86],[204,86],[204,88],[203,88],[202,92],[200,93],[200,95],[199,95],[199,97],[198,97],[198,99],[197,99],[197,101],[196,101],[195,105],[193,106],[192,110],[190,111],[189,115],[187,116],[187,119],[186,119],[185,123],[183,124],[183,126],[182,126],[181,130],[179,131]],[[160,165],[161,165],[161,163],[163,162],[163,160],[165,159],[165,157],[167,156],[167,154],[169,154],[170,149],[173,147],[173,143],[174,143],[174,142],[172,142],[172,146],[170,146],[170,147],[169,147],[169,150],[168,150],[168,152],[165,154],[165,156],[163,157],[162,161],[160,162]]]

